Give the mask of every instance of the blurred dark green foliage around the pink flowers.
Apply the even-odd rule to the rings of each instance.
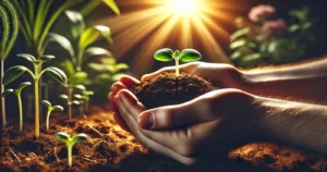
[[[306,8],[292,10],[289,16],[288,30],[282,35],[263,32],[269,21],[254,25],[241,24],[244,20],[237,19],[237,24],[241,26],[231,35],[230,49],[233,52],[230,59],[238,66],[255,67],[295,62],[305,58],[308,46],[315,40],[314,22]]]

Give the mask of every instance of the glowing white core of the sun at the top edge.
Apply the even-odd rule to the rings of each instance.
[[[171,0],[171,8],[175,13],[191,14],[198,10],[197,0]]]

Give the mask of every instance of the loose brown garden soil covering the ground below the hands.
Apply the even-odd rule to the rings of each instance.
[[[252,143],[230,151],[225,159],[206,164],[184,167],[174,160],[150,152],[113,121],[106,108],[93,107],[92,114],[68,120],[65,114],[51,115],[51,126],[41,126],[39,139],[34,138],[33,120],[17,132],[15,120],[1,131],[0,171],[327,171],[327,159],[268,143]],[[73,149],[73,167],[66,165],[66,147],[53,134],[86,133],[87,144]]]

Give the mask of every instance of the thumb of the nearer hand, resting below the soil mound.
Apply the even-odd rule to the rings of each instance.
[[[205,99],[160,107],[144,111],[138,116],[138,124],[144,130],[171,130],[173,127],[211,121],[216,116],[210,113],[210,103]]]

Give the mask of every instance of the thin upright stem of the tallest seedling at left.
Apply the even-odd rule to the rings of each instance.
[[[34,78],[34,100],[35,100],[35,137],[39,138],[39,93],[38,93],[38,86],[39,86],[39,75],[38,75],[38,66],[35,65],[35,78]]]

